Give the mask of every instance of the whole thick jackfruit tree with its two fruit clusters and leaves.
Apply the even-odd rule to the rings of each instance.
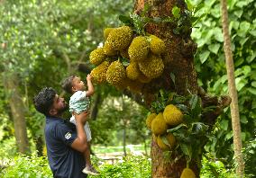
[[[91,52],[94,82],[142,99],[151,111],[152,177],[198,177],[204,146],[228,96],[197,85],[190,38],[196,7],[185,1],[137,0],[120,27],[106,27],[105,44]],[[199,18],[199,17],[198,17]]]

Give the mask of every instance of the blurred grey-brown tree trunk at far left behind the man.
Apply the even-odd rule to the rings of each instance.
[[[18,77],[13,73],[3,76],[5,92],[11,106],[12,115],[14,118],[14,133],[18,151],[22,154],[30,153],[29,141],[26,130],[26,122],[24,117],[24,105],[22,96],[19,93],[19,85],[17,84]]]

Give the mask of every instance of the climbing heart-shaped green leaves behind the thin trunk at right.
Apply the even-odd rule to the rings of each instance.
[[[206,13],[192,32],[192,38],[197,42],[195,56],[199,85],[209,93],[226,94],[227,76],[224,63],[223,34],[221,27],[220,2],[216,0],[191,0],[192,5],[202,8],[197,14]],[[233,61],[235,67],[235,83],[238,91],[242,141],[255,138],[256,126],[256,52],[255,36],[256,21],[251,18],[256,15],[256,3],[252,0],[228,1],[229,31],[232,40]],[[233,163],[232,124],[230,111],[225,110],[215,126],[215,138],[206,146],[224,165],[231,167]],[[251,170],[252,172],[252,170]]]

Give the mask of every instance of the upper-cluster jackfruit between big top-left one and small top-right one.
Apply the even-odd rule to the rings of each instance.
[[[150,43],[146,37],[135,37],[128,49],[131,61],[143,61],[148,57]]]

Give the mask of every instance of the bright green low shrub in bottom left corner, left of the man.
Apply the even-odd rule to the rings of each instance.
[[[46,157],[15,156],[0,177],[52,177]]]

